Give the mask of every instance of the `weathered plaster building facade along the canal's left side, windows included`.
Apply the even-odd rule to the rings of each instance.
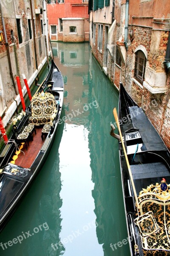
[[[22,74],[31,86],[50,54],[45,0],[1,1],[0,32],[0,116],[6,126],[20,104],[16,76],[24,96]]]

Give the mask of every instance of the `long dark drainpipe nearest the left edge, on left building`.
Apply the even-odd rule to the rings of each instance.
[[[17,95],[18,93],[17,93],[17,88],[15,86],[14,76],[12,73],[11,59],[10,59],[10,54],[9,54],[9,45],[8,45],[8,39],[7,39],[7,35],[6,35],[6,27],[5,27],[5,22],[4,22],[4,18],[3,18],[3,11],[2,11],[1,3],[0,3],[0,13],[1,13],[1,19],[2,19],[2,23],[3,23],[3,31],[4,31],[4,35],[5,35],[5,41],[6,41],[5,46],[6,46],[7,56],[8,56],[9,73],[10,73],[10,76],[12,79],[12,84],[14,86],[15,94]]]

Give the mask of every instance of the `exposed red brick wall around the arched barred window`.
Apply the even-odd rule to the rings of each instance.
[[[150,122],[161,135],[167,147],[170,148],[170,100],[169,93],[152,94],[145,87],[139,86],[132,80],[134,77],[134,51],[142,45],[147,50],[147,61],[150,68],[156,72],[164,71],[164,56],[167,49],[169,32],[162,31],[158,50],[150,51],[153,39],[149,28],[134,26],[134,39],[128,47],[126,65],[122,65],[121,80],[128,93],[131,93],[135,102],[141,106]],[[142,88],[143,87],[143,88]],[[170,87],[170,75],[167,75],[166,87]],[[169,90],[169,89],[168,89]]]

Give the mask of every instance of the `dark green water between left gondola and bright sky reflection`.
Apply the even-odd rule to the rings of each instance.
[[[23,240],[3,250],[2,256],[59,256],[63,247],[56,253],[52,241],[60,241],[61,231],[60,198],[61,174],[59,172],[59,144],[62,138],[64,123],[57,131],[57,140],[54,140],[48,159],[40,173],[35,178],[22,203],[0,233],[0,242],[8,243],[20,236]],[[50,161],[49,161],[50,159]],[[44,224],[45,229],[40,225]],[[37,232],[37,228],[39,232]],[[30,233],[29,236],[27,233]],[[34,235],[33,235],[34,233]],[[25,237],[24,237],[25,235]]]

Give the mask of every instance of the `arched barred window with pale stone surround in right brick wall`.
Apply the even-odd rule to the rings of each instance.
[[[135,54],[135,70],[134,70],[134,78],[139,81],[139,83],[143,83],[144,81],[144,73],[146,67],[146,56],[144,52],[138,50]]]

